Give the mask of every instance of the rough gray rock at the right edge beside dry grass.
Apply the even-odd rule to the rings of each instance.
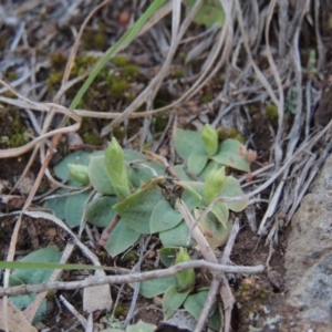
[[[297,319],[332,331],[332,155],[291,221],[284,264]]]

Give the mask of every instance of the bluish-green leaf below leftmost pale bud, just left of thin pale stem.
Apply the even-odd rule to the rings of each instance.
[[[69,196],[65,203],[65,222],[69,227],[76,227],[83,219],[84,206],[91,191]]]

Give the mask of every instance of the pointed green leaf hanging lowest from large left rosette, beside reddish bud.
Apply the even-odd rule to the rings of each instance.
[[[122,220],[115,226],[106,241],[104,248],[112,256],[125,251],[133,246],[139,238],[139,234],[127,227]]]

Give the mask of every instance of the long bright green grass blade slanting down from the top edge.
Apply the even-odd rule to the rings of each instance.
[[[144,12],[144,14],[137,20],[137,22],[124,33],[124,35],[105,53],[105,55],[101,59],[101,61],[97,63],[95,69],[92,71],[90,76],[85,80],[84,84],[75,95],[74,100],[72,101],[70,108],[74,110],[76,108],[77,104],[82,100],[83,95],[85,94],[89,86],[92,84],[96,75],[100,73],[100,71],[105,66],[105,64],[110,61],[112,56],[115,55],[121,49],[126,48],[133,39],[136,37],[136,34],[139,32],[142,27],[147,22],[147,20],[152,17],[152,14],[158,10],[164,3],[166,3],[167,0],[155,0]]]

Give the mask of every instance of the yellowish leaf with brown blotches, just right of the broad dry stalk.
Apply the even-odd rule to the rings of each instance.
[[[195,210],[195,217],[198,218],[201,212],[201,210]],[[198,225],[212,249],[225,245],[231,230],[231,222],[227,222],[227,227],[225,228],[211,212]]]

